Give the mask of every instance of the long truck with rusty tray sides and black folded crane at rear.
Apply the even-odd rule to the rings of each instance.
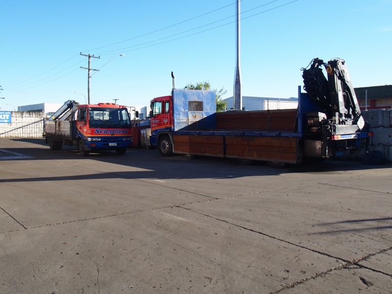
[[[325,67],[327,78],[322,73]],[[343,59],[315,58],[303,70],[298,108],[216,113],[215,91],[173,89],[150,102],[150,145],[173,153],[266,161],[280,168],[367,149],[364,122]]]

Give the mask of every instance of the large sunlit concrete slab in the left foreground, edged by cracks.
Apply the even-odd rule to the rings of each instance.
[[[339,264],[179,207],[1,234],[0,244],[1,293],[269,293]]]

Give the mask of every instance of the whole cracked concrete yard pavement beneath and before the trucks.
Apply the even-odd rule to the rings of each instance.
[[[0,293],[392,293],[391,165],[0,159]]]

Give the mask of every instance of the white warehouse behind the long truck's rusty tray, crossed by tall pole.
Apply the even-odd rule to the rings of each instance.
[[[222,99],[226,102],[226,110],[234,109],[234,99]],[[268,97],[242,97],[242,110],[269,110],[269,109],[295,109],[298,107],[298,98],[268,98]]]

